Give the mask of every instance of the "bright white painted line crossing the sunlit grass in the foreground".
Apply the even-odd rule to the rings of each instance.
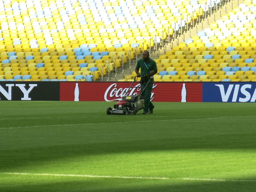
[[[239,179],[199,179],[199,178],[167,178],[167,177],[132,177],[110,175],[75,175],[75,174],[50,174],[50,173],[0,173],[4,175],[37,175],[37,176],[62,176],[62,177],[87,177],[87,178],[117,178],[117,179],[162,179],[162,180],[190,180],[190,181],[217,181],[217,182],[256,182],[256,180]]]

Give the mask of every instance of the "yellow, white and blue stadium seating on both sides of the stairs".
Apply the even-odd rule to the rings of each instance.
[[[3,0],[0,80],[134,79],[143,50],[167,47],[217,0]],[[246,0],[155,61],[156,81],[254,81],[255,2]],[[123,73],[124,68],[130,74]],[[115,79],[123,73],[124,79]]]

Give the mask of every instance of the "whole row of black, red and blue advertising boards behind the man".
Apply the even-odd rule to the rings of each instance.
[[[119,101],[131,82],[0,82],[0,100]],[[135,82],[130,95],[140,93]],[[155,82],[154,102],[255,102],[254,82]]]

